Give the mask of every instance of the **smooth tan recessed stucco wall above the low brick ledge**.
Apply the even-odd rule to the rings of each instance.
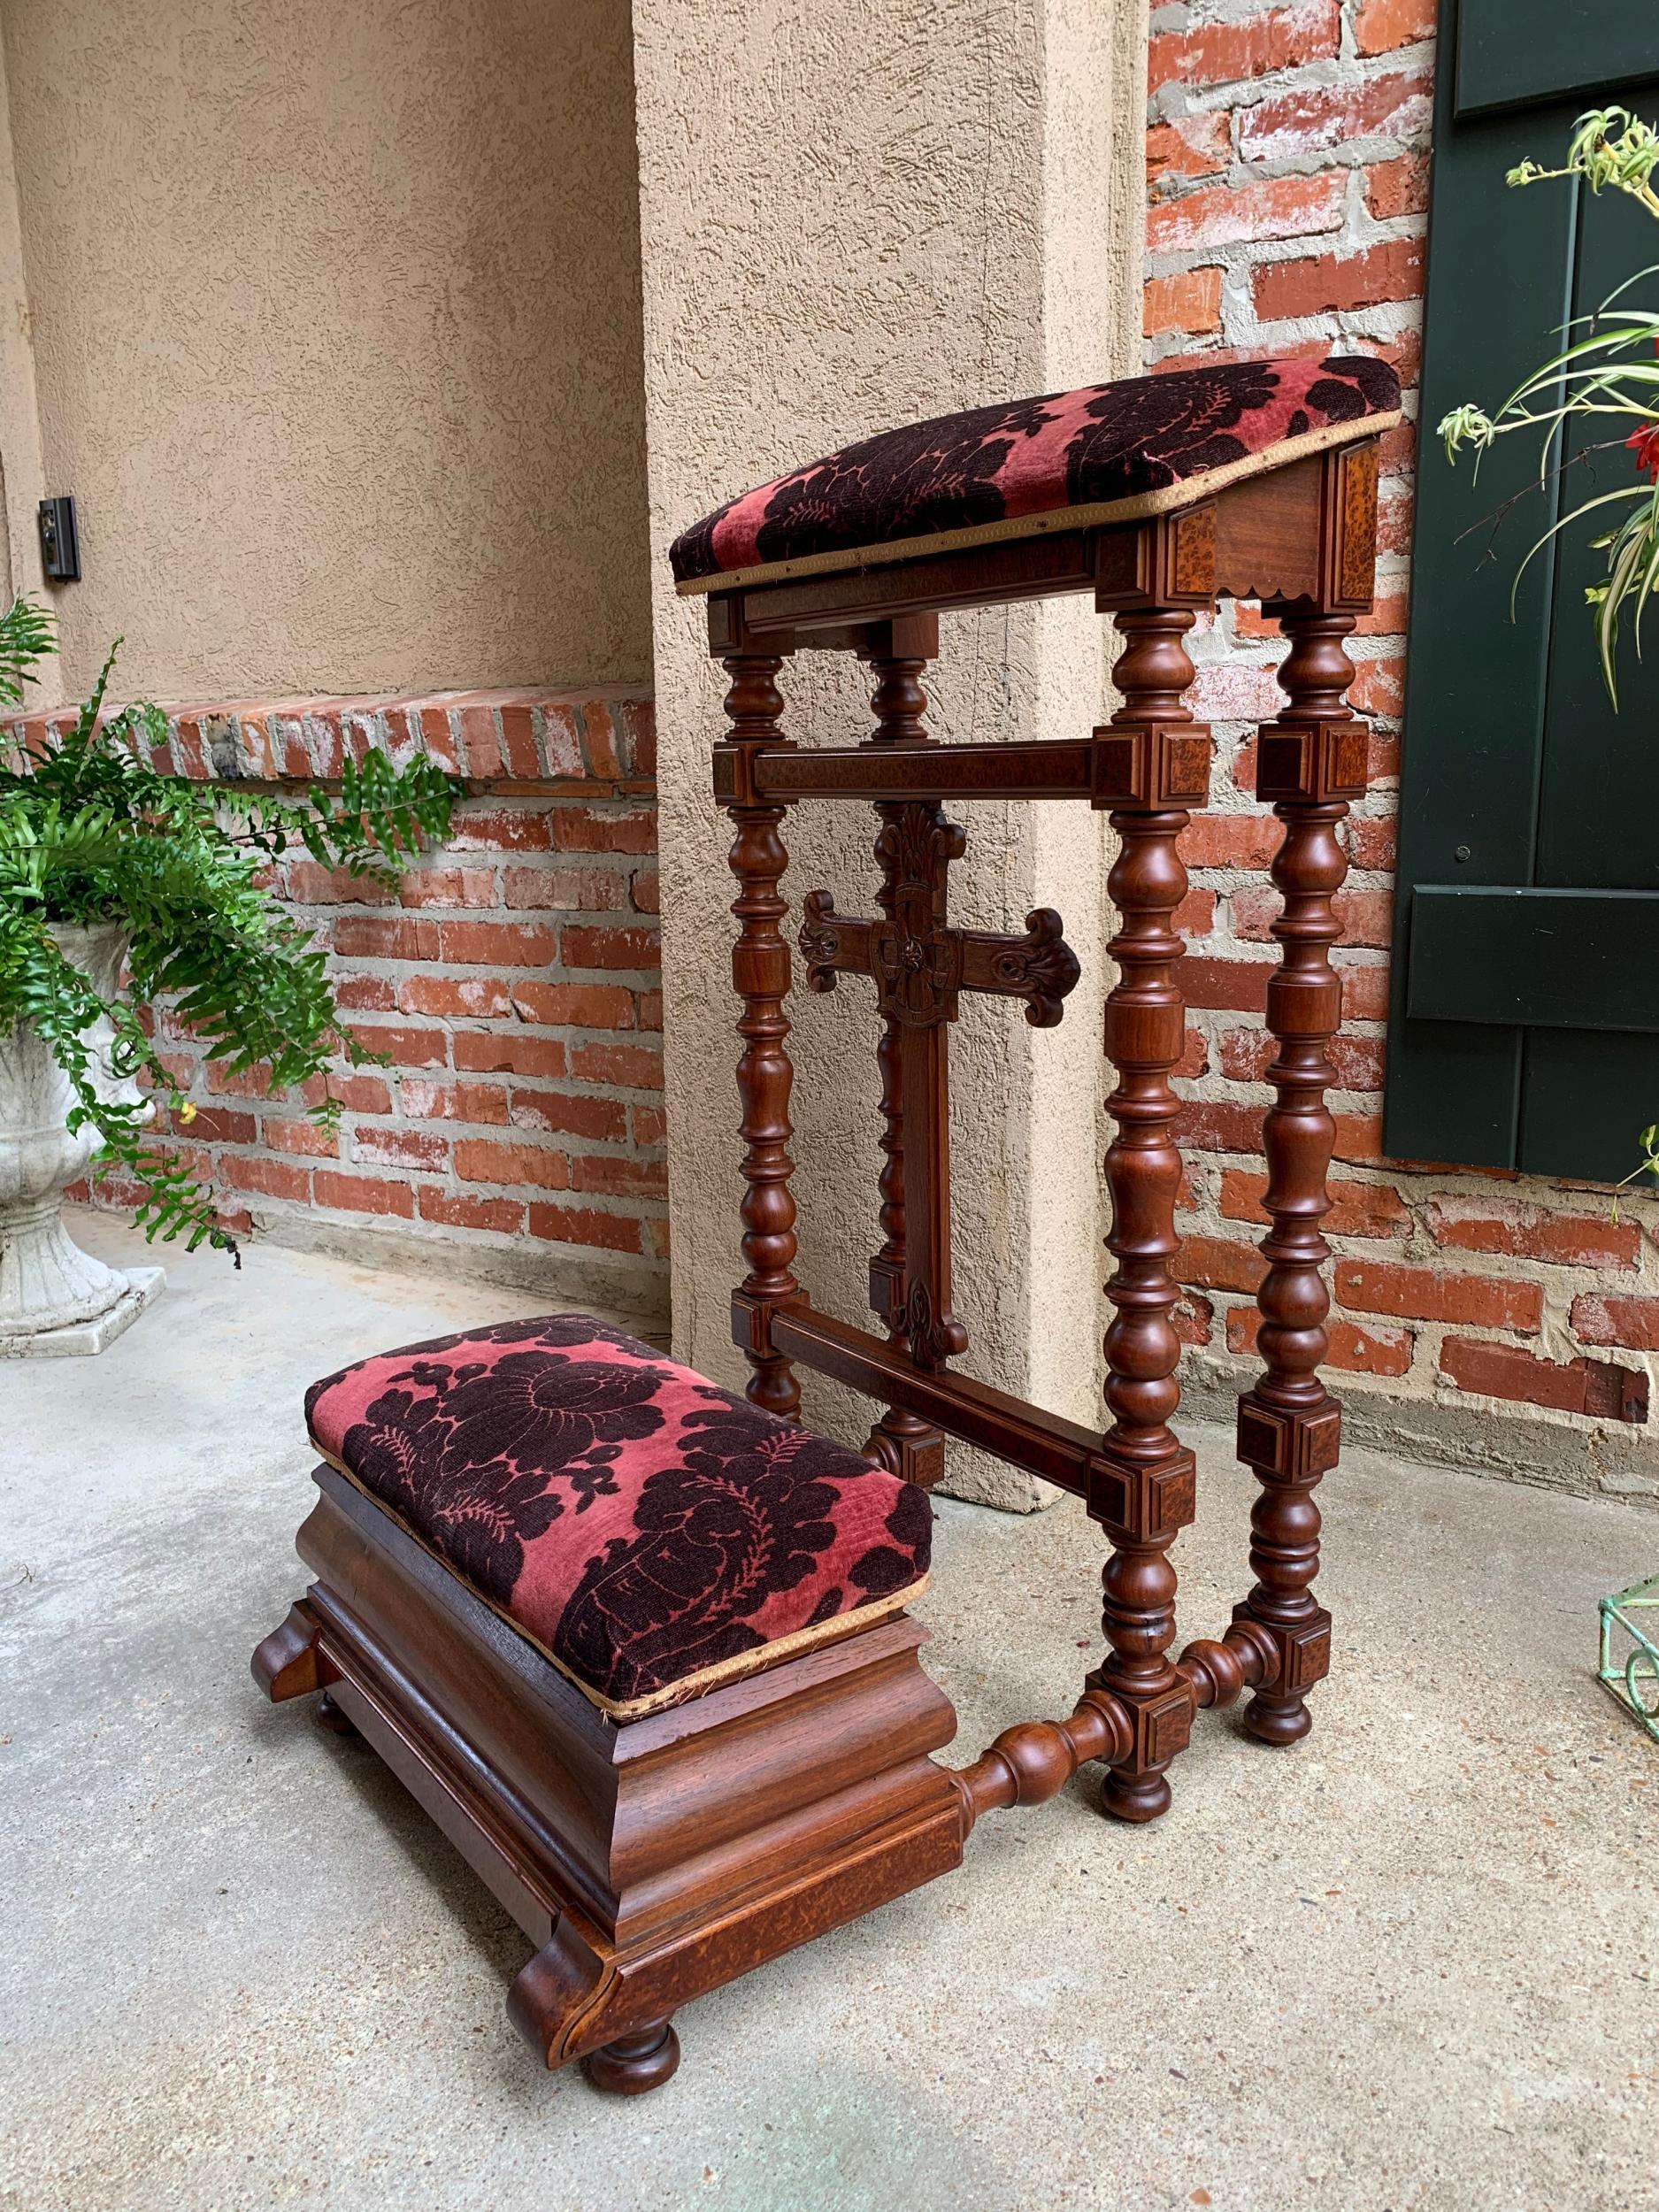
[[[66,681],[117,630],[166,699],[646,679],[626,7],[0,24]]]

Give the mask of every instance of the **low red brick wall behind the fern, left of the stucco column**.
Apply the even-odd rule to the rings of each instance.
[[[206,1066],[164,1011],[164,1057],[197,1108],[179,1141],[241,1228],[372,1225],[482,1272],[524,1274],[540,1250],[549,1285],[586,1276],[666,1307],[650,701],[511,690],[179,710],[157,765],[299,783],[367,745],[425,748],[471,785],[451,838],[389,894],[305,856],[281,865],[343,1011],[389,1066],[336,1079],[345,1115],[327,1135],[303,1102]],[[97,1186],[104,1206],[128,1197]]]

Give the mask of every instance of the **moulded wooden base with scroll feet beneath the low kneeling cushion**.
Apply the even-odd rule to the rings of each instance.
[[[641,1721],[606,1719],[334,1469],[316,1582],[254,1652],[325,1690],[518,1920],[509,2013],[549,2066],[639,2093],[692,1997],[962,1860],[956,1734],[894,1615]]]

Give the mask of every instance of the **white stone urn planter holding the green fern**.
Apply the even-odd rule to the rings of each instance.
[[[115,998],[126,958],[119,922],[53,925],[66,960]],[[106,1020],[86,1033],[100,1097],[135,1104],[142,1091],[108,1064]],[[161,1267],[106,1267],[82,1252],[62,1221],[64,1190],[104,1150],[82,1121],[69,1135],[75,1093],[51,1048],[27,1024],[0,1029],[0,1358],[102,1352],[157,1296]],[[150,1108],[155,1110],[155,1108]]]

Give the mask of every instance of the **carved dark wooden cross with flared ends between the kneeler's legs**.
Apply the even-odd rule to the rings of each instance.
[[[810,991],[841,975],[869,975],[887,1024],[883,1110],[887,1115],[887,1245],[869,1263],[869,1303],[922,1367],[967,1352],[951,1312],[951,1108],[947,1024],[958,993],[1022,998],[1035,1029],[1053,1029],[1077,982],[1077,958],[1053,907],[1026,916],[1022,938],[953,929],[945,918],[947,872],[967,849],[962,830],[931,801],[878,807],[883,830],[880,920],[836,914],[830,891],[810,891],[801,956]]]

